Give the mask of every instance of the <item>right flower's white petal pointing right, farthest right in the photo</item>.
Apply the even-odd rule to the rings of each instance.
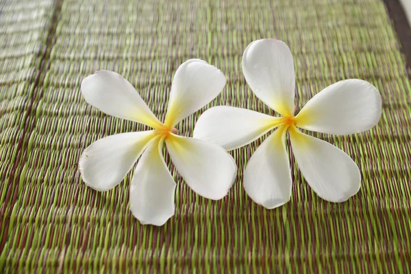
[[[381,95],[375,86],[348,79],[328,86],[303,107],[297,127],[327,134],[354,134],[371,129],[381,117]]]

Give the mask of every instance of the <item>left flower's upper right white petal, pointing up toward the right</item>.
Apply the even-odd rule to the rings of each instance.
[[[165,125],[179,121],[207,105],[225,86],[225,76],[215,66],[199,59],[184,62],[175,72]]]

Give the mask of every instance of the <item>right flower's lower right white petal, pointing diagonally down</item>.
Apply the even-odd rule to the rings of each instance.
[[[290,140],[301,173],[319,197],[338,203],[360,190],[360,170],[344,151],[298,129],[290,130]]]

